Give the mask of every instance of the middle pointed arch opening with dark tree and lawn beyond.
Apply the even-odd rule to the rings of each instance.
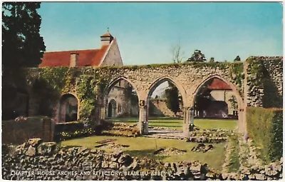
[[[147,93],[148,133],[183,133],[185,90],[168,76],[157,79]]]

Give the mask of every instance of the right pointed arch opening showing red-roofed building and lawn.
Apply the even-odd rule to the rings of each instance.
[[[236,129],[239,123],[241,98],[226,79],[211,76],[195,91],[194,126],[202,129]]]

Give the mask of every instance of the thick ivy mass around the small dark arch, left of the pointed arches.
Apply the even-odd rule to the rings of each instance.
[[[33,74],[33,79],[30,76],[27,81],[33,82],[29,84],[36,88],[33,91],[38,95],[36,99],[42,98],[40,99],[42,103],[48,103],[41,104],[46,108],[43,109],[46,110],[44,115],[54,116],[54,110],[51,108],[54,108],[56,101],[59,101],[63,94],[76,93],[80,102],[80,121],[90,125],[98,96],[105,91],[112,74],[91,67],[84,69],[68,67],[41,68],[33,69],[31,72],[37,71],[38,74]]]

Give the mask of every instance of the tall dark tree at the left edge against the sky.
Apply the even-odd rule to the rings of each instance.
[[[14,118],[13,103],[19,91],[15,81],[26,83],[21,67],[34,67],[41,63],[46,46],[40,36],[40,2],[4,2],[2,4],[2,102],[3,118]],[[41,103],[41,105],[44,105]]]

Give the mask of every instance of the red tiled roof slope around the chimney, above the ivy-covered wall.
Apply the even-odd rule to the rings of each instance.
[[[100,49],[46,52],[39,67],[69,66],[71,53],[78,54],[77,66],[99,66],[108,46]]]

